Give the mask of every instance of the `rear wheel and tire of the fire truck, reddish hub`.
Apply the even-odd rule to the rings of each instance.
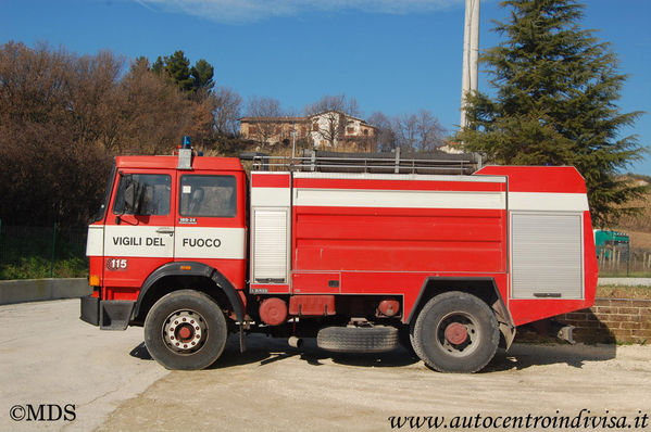
[[[440,372],[472,373],[494,356],[500,341],[498,321],[480,298],[448,292],[431,298],[412,328],[418,357]]]

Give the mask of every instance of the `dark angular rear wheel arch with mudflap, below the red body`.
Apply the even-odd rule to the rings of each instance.
[[[425,279],[421,292],[416,297],[414,307],[412,307],[405,323],[411,325],[427,302],[437,296],[450,291],[460,291],[472,294],[484,301],[494,313],[498,323],[500,325],[500,333],[503,336],[503,344],[506,348],[511,346],[515,338],[515,326],[513,318],[509,313],[509,308],[504,303],[504,298],[498,289],[494,278],[491,277],[435,277],[430,276]]]

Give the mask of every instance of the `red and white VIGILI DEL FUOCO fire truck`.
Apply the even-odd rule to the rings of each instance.
[[[592,305],[597,261],[573,167],[315,168],[116,157],[88,229],[82,319],[145,328],[168,369],[201,369],[229,333],[316,336],[334,352],[411,345],[474,372],[515,328]],[[397,173],[397,174],[396,174]]]

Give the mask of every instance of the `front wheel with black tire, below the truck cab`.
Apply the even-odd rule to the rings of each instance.
[[[204,293],[180,290],[159,300],[145,320],[145,344],[166,369],[197,370],[224,351],[228,328],[220,305]]]

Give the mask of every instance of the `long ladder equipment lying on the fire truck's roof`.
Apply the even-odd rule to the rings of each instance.
[[[471,175],[481,168],[476,153],[340,153],[305,150],[302,156],[270,156],[264,153],[241,153],[240,160],[252,161],[252,170],[290,170],[320,173],[437,174]]]

